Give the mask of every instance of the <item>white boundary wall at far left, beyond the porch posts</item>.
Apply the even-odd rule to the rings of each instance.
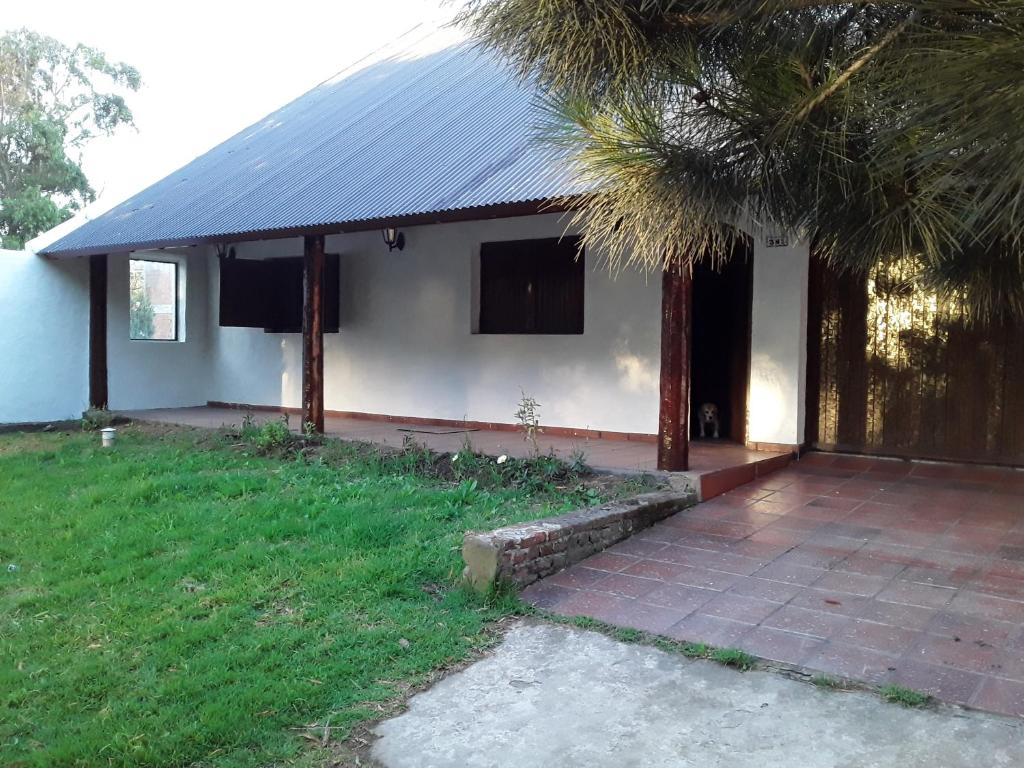
[[[88,262],[0,251],[0,424],[79,418],[88,348]]]

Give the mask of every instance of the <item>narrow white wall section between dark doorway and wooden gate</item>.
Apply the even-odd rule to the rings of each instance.
[[[809,266],[806,242],[767,248],[764,237],[755,236],[751,442],[804,442]]]

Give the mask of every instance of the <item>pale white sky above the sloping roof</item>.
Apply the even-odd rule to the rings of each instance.
[[[162,178],[418,23],[443,0],[2,0],[2,29],[27,27],[133,65],[137,131],[97,139],[84,167],[102,207]]]

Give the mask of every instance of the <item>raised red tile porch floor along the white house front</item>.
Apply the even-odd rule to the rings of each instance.
[[[123,415],[169,424],[194,427],[237,426],[246,412],[226,408],[174,408],[152,411],[125,411]],[[281,415],[267,411],[253,412],[257,421],[280,419]],[[291,416],[291,424],[298,428],[299,417]],[[325,431],[334,437],[362,440],[384,445],[401,445],[409,435],[417,442],[434,451],[453,453],[469,440],[476,451],[488,456],[525,457],[530,445],[516,432],[498,430],[458,431],[452,427],[427,427],[400,421],[377,421],[349,417],[328,417]],[[402,430],[415,431],[402,431]],[[569,458],[577,450],[584,452],[587,463],[601,470],[653,471],[656,467],[657,445],[642,440],[609,440],[586,437],[557,437],[541,435],[542,451],[554,451]],[[711,499],[756,477],[780,469],[790,463],[788,454],[748,451],[741,445],[725,441],[694,441],[690,445],[690,469],[699,478],[701,498]]]

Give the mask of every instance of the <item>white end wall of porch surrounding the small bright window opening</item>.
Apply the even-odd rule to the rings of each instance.
[[[131,258],[174,261],[178,264],[179,340],[139,341],[129,338],[129,256],[112,254],[106,264],[110,408],[128,411],[206,404],[213,367],[208,343],[207,249],[139,251]]]

